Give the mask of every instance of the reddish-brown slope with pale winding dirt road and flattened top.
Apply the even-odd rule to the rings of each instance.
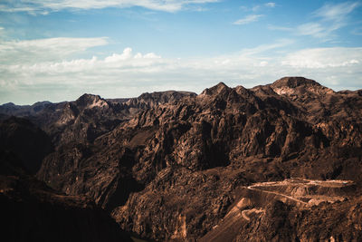
[[[361,202],[350,180],[286,179],[239,191],[199,241],[359,241]]]

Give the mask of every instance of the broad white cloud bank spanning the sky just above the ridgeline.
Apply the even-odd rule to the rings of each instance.
[[[90,47],[106,41],[103,38],[81,40]],[[57,52],[44,49],[44,43],[58,43]],[[105,57],[81,59],[68,55],[62,60],[56,57],[58,52],[73,49],[71,53],[76,53],[74,46],[86,49],[74,39],[64,39],[63,43],[68,44],[44,39],[31,44],[20,42],[12,48],[0,45],[3,54],[0,58],[3,60],[0,63],[0,103],[60,102],[74,100],[84,92],[109,98],[171,89],[201,92],[220,81],[231,86],[252,87],[287,75],[303,75],[334,89],[357,89],[362,83],[362,47],[285,53],[292,41],[280,40],[212,58],[164,58],[157,53],[134,53],[131,48],[125,48],[123,52]],[[3,58],[6,53],[9,56],[39,46],[43,49],[32,53],[36,58],[29,57],[24,62]],[[52,59],[46,57],[50,53]]]

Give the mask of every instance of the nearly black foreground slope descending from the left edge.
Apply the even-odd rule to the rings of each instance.
[[[2,237],[10,241],[132,241],[89,198],[66,196],[26,174],[0,150]]]

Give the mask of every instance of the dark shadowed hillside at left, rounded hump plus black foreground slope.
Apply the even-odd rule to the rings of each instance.
[[[1,235],[7,241],[132,241],[90,198],[50,189],[39,169],[50,138],[30,121],[0,123]],[[21,157],[21,159],[19,159]]]

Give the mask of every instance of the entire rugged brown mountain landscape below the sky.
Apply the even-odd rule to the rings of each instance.
[[[13,241],[362,240],[361,90],[220,82],[6,103],[0,120]]]

